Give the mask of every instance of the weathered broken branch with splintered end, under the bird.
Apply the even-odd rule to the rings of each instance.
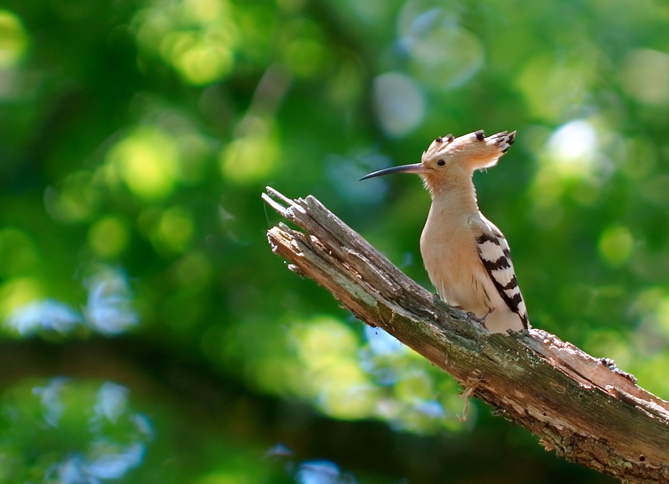
[[[669,402],[613,361],[541,329],[491,334],[436,299],[309,195],[263,199],[304,232],[268,231],[288,268],[454,376],[545,449],[630,483],[669,483]]]

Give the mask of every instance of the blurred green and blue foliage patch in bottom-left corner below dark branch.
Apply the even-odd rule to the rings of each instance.
[[[112,388],[128,394],[112,382],[66,377],[29,378],[6,389],[0,400],[0,453],[11,463],[3,469],[5,481],[97,484],[141,465],[151,424],[129,405],[102,424],[100,400],[108,400]]]

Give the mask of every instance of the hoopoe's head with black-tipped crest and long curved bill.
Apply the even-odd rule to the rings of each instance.
[[[496,133],[485,137],[483,130],[459,138],[440,136],[423,152],[420,163],[401,165],[369,173],[361,180],[391,173],[417,173],[434,193],[471,178],[474,170],[493,167],[513,144],[516,132]]]

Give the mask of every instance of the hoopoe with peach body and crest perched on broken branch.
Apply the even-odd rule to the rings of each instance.
[[[478,208],[472,175],[494,167],[513,144],[516,132],[486,137],[483,130],[461,137],[440,136],[420,163],[369,173],[417,173],[432,197],[420,238],[429,280],[446,303],[491,333],[529,329],[525,301],[506,238]]]

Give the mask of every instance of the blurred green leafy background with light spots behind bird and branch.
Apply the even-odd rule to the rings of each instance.
[[[357,179],[477,129],[533,325],[669,398],[666,0],[4,0],[0,481],[613,482],[267,244],[312,193],[432,290]]]

